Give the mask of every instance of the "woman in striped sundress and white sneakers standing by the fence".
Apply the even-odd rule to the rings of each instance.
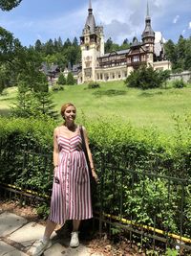
[[[41,255],[49,244],[49,239],[57,223],[73,220],[70,245],[79,245],[78,228],[81,220],[93,217],[90,178],[85,154],[82,151],[80,127],[74,123],[76,108],[73,104],[62,105],[64,124],[53,131],[53,193],[51,212],[42,240],[34,248],[32,255]],[[92,175],[97,180],[87,132],[82,127],[88,151]]]

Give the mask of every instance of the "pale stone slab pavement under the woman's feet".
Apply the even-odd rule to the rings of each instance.
[[[10,212],[0,214],[0,256],[31,255],[36,241],[42,238],[44,225]],[[69,246],[70,238],[60,238],[55,232],[44,252],[45,256],[101,256],[91,252],[91,248],[80,244],[77,248]]]

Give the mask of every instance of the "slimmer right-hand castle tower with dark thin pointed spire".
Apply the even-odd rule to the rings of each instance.
[[[147,63],[153,65],[154,61],[154,44],[155,44],[155,32],[151,27],[151,17],[149,15],[149,5],[147,2],[147,14],[145,18],[145,29],[141,35],[142,42],[147,54]]]

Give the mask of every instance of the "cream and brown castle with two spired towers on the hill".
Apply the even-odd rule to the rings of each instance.
[[[96,26],[90,0],[80,47],[81,67],[74,66],[73,69],[77,83],[124,80],[141,64],[159,70],[171,69],[170,61],[165,59],[162,36],[159,33],[156,36],[151,27],[148,4],[141,42],[135,37],[129,49],[105,54],[103,27]]]

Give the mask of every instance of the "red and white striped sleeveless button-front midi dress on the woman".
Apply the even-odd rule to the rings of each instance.
[[[53,179],[49,220],[64,224],[66,220],[93,217],[90,178],[81,136],[57,136],[59,163]],[[56,178],[55,178],[56,177]]]

